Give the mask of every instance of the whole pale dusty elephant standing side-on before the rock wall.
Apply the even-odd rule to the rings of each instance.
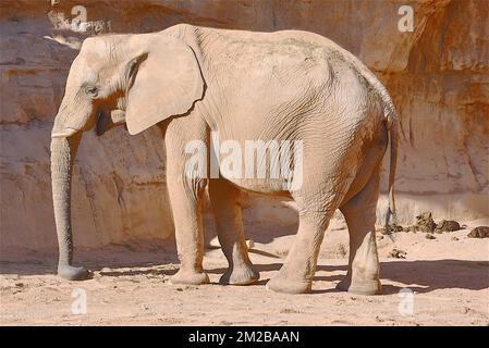
[[[83,133],[95,128],[101,136],[125,125],[136,135],[156,126],[164,140],[180,259],[172,284],[209,283],[203,269],[207,189],[229,262],[221,284],[247,285],[259,278],[245,245],[240,199],[243,191],[253,191],[292,200],[298,211],[294,244],[267,289],[311,290],[323,234],[340,209],[349,228],[350,258],[338,287],[380,294],[376,207],[381,163],[390,148],[388,220],[395,213],[398,122],[393,102],[374,73],[317,34],[178,24],[157,33],[87,38],[70,69],[51,133],[58,274],[72,281],[90,276],[72,262],[71,181]],[[210,146],[215,134],[221,144],[301,141],[298,159],[283,156],[285,166],[302,163],[301,172],[288,177],[232,175],[216,159],[219,153]],[[205,146],[207,164],[217,161],[218,175],[209,175],[208,167],[186,171],[194,154],[185,149],[194,140]]]

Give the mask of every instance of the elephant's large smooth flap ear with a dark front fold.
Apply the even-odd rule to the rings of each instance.
[[[131,135],[185,114],[204,97],[205,82],[194,50],[175,38],[148,36],[143,52],[126,67],[125,122]]]

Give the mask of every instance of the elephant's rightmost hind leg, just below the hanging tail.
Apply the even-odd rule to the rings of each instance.
[[[379,197],[379,167],[362,190],[340,207],[350,234],[350,259],[346,277],[338,288],[353,294],[381,294],[379,257],[376,243],[376,208]]]

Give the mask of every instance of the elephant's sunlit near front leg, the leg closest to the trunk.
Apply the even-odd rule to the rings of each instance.
[[[169,176],[168,190],[173,211],[176,249],[180,259],[180,270],[171,277],[171,283],[207,284],[209,277],[203,271],[203,181],[193,181],[180,175]]]

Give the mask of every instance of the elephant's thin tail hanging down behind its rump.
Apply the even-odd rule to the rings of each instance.
[[[386,108],[387,128],[389,135],[390,147],[390,165],[389,165],[389,208],[386,214],[386,232],[389,232],[389,222],[392,217],[393,225],[398,224],[398,216],[395,213],[395,199],[394,199],[394,182],[395,182],[395,169],[398,165],[398,114],[392,103]]]

